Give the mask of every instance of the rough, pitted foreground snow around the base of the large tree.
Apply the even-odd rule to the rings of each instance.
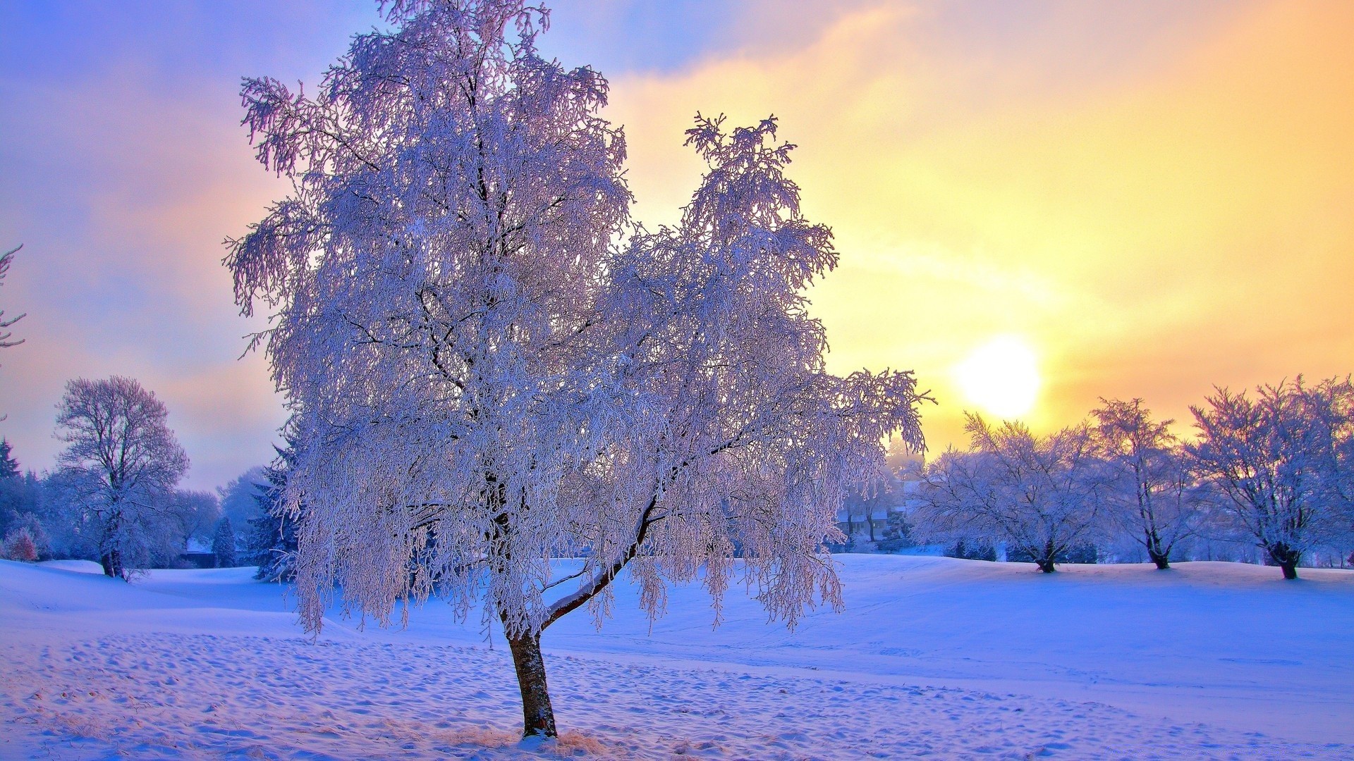
[[[9,752],[56,758],[517,758],[512,664],[486,647],[213,635],[5,647]],[[550,659],[566,733],[542,756],[619,758],[1347,757],[1097,704]],[[18,757],[15,754],[14,757]]]

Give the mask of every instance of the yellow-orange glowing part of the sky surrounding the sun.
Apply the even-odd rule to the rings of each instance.
[[[695,186],[693,112],[780,116],[842,255],[811,294],[829,367],[914,368],[933,451],[965,409],[1049,429],[1143,397],[1187,432],[1213,385],[1354,370],[1354,3],[1037,4],[1007,43],[945,7],[615,77],[639,217]],[[1029,410],[953,371],[1009,334],[1040,357]]]

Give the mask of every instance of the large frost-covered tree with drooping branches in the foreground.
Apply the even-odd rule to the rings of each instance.
[[[623,569],[654,616],[700,580],[718,620],[735,574],[789,626],[838,605],[822,543],[891,432],[922,445],[922,397],[909,372],[823,371],[802,291],[835,253],[774,121],[697,119],[709,169],[681,223],[631,229],[607,83],[538,54],[544,9],[389,16],[314,96],[242,91],[259,160],[295,187],[226,264],[242,310],[274,311],[306,626],[336,585],[382,624],[483,600],[524,733],[554,735],[540,632],[580,607],[600,624]]]

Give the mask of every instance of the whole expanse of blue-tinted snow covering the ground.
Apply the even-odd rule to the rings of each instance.
[[[0,757],[1354,757],[1354,571],[839,561],[846,611],[795,634],[737,589],[718,630],[699,589],[566,617],[540,747],[477,616],[311,640],[252,569],[0,562]]]

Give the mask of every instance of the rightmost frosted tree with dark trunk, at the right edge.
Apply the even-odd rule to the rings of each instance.
[[[1259,386],[1254,397],[1217,389],[1205,401],[1190,408],[1198,428],[1187,447],[1194,467],[1284,578],[1297,578],[1303,552],[1350,531],[1350,378],[1308,386],[1300,375]]]

